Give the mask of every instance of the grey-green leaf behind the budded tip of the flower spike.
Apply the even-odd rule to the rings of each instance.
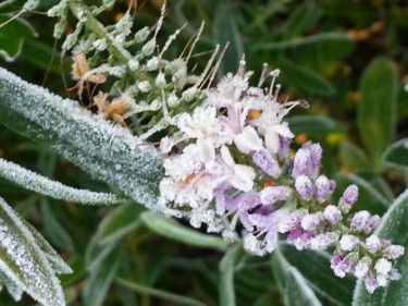
[[[408,189],[405,191],[384,215],[375,234],[392,240],[393,244],[408,247]],[[357,282],[353,306],[388,306],[408,305],[408,256],[400,257],[395,268],[401,274],[401,280],[391,282],[384,289],[378,289],[370,294],[362,280]]]

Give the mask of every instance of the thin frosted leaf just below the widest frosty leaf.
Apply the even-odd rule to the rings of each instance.
[[[91,205],[108,205],[122,201],[121,198],[113,194],[95,193],[65,186],[60,182],[47,179],[2,158],[0,158],[0,176],[24,188],[55,199]]]

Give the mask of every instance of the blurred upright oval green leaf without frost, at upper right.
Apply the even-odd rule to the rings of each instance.
[[[357,123],[374,170],[379,172],[381,156],[394,137],[398,93],[395,64],[388,59],[374,60],[364,71],[360,93]]]

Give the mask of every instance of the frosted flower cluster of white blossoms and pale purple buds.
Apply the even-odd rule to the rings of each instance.
[[[347,187],[337,205],[330,198],[335,182],[320,174],[322,148],[306,143],[292,155],[294,138],[284,117],[304,100],[279,102],[279,71],[264,66],[257,87],[243,60],[209,89],[194,112],[174,117],[177,133],[162,138],[166,176],[159,204],[189,216],[224,238],[242,236],[244,247],[271,253],[279,236],[298,249],[335,247],[331,260],[338,277],[364,278],[369,292],[397,280],[393,261],[404,247],[372,234],[379,216],[351,213],[358,188]],[[269,88],[262,85],[272,77]]]

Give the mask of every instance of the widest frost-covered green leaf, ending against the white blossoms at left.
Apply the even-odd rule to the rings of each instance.
[[[127,130],[0,69],[0,123],[49,145],[95,178],[154,210],[164,175],[156,149]],[[164,208],[163,208],[164,209]]]

